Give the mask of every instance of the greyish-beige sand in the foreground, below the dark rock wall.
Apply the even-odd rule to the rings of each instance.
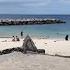
[[[70,58],[14,52],[0,56],[0,70],[70,70]]]

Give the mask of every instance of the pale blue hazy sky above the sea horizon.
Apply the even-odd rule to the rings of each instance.
[[[0,14],[70,14],[70,0],[0,0]]]

